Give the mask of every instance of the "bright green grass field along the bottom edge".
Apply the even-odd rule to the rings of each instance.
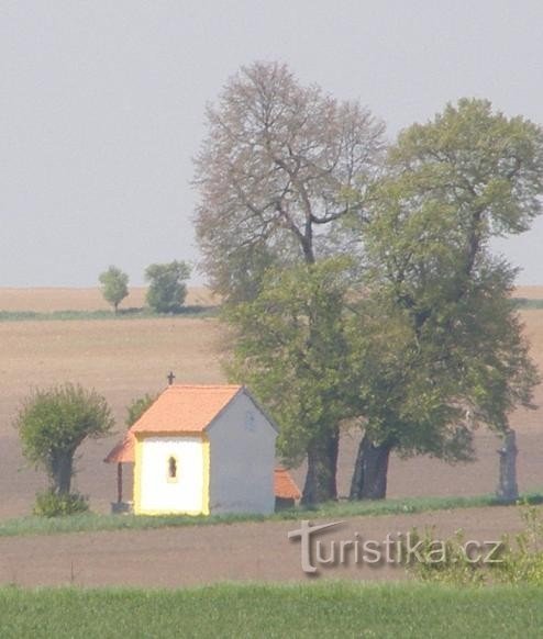
[[[2,637],[541,637],[543,590],[418,584],[0,590]]]

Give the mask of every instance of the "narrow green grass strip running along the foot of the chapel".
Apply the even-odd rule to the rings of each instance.
[[[527,493],[524,503],[543,503],[542,493]],[[20,517],[0,523],[0,537],[20,535],[53,535],[58,532],[93,532],[98,530],[142,530],[195,525],[235,524],[243,522],[280,522],[292,519],[323,519],[337,517],[363,517],[375,515],[398,515],[448,511],[453,508],[475,508],[497,506],[502,503],[492,495],[474,497],[411,497],[406,500],[384,500],[378,502],[330,502],[314,508],[293,508],[274,515],[210,515],[192,517],[188,515],[144,516],[144,515],[97,515],[82,513],[66,517]]]

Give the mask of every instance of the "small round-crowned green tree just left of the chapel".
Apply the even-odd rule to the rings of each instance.
[[[78,447],[87,438],[107,435],[113,424],[101,395],[69,383],[35,390],[23,402],[14,423],[24,457],[45,469],[57,495],[70,492]]]

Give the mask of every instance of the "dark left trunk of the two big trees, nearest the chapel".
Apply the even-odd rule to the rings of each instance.
[[[301,503],[319,504],[337,498],[337,452],[340,431],[334,428],[308,448],[308,472],[303,485]]]

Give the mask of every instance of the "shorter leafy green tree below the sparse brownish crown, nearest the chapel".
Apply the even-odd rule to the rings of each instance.
[[[348,283],[344,258],[277,269],[267,272],[255,300],[228,311],[235,329],[230,377],[270,407],[287,462],[307,456],[306,504],[335,497],[339,424],[359,410]]]

